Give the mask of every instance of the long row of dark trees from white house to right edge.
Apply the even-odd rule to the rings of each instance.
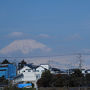
[[[50,71],[42,73],[37,81],[38,87],[89,87],[90,74],[82,74],[79,69],[75,69],[72,74],[51,74]]]

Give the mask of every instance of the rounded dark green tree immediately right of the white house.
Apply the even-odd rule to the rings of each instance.
[[[51,79],[52,74],[49,70],[46,70],[42,73],[41,78],[37,81],[38,87],[49,87]]]

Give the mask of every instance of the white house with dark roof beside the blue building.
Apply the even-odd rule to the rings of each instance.
[[[31,82],[36,87],[36,82],[41,78],[42,72],[49,70],[49,65],[35,66],[33,64],[26,64],[22,69],[17,71],[17,76],[14,78],[14,84]]]

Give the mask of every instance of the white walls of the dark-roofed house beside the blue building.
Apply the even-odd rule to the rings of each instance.
[[[41,78],[42,72],[45,71],[45,69],[49,69],[49,65],[40,65],[39,67],[36,68],[36,70],[32,70],[28,66],[24,66],[22,69],[18,70],[17,73],[18,75],[23,74],[23,77],[16,77],[14,79],[15,83],[18,82],[36,82],[38,79]]]

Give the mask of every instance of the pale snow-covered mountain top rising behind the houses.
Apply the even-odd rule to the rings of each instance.
[[[5,48],[0,50],[1,54],[8,54],[20,51],[23,54],[28,54],[34,50],[41,50],[41,51],[50,51],[51,49],[48,48],[45,44],[37,42],[35,40],[15,40]]]

